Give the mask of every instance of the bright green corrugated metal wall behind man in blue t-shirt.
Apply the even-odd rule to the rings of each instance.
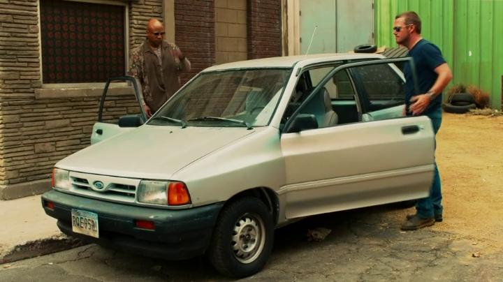
[[[414,10],[422,35],[440,47],[453,70],[453,83],[474,84],[502,107],[503,1],[376,0],[377,45],[396,45],[391,27],[398,13]],[[455,13],[454,13],[455,10]]]

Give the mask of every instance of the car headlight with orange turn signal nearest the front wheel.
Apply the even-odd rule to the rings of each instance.
[[[142,180],[138,185],[138,202],[180,206],[191,203],[187,186],[180,181]]]

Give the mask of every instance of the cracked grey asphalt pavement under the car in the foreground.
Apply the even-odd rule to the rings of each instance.
[[[411,209],[372,207],[311,216],[275,232],[261,272],[242,281],[503,281],[503,251],[438,229],[400,230]],[[446,218],[446,220],[449,218]],[[330,230],[321,241],[312,232]],[[0,265],[0,281],[232,281],[204,258],[168,261],[89,244]]]

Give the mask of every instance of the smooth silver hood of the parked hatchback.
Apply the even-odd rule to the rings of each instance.
[[[145,125],[82,149],[56,166],[99,175],[169,179],[189,163],[255,131]]]

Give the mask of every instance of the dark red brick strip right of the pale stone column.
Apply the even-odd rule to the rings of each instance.
[[[282,55],[281,5],[281,0],[248,0],[248,59]]]

